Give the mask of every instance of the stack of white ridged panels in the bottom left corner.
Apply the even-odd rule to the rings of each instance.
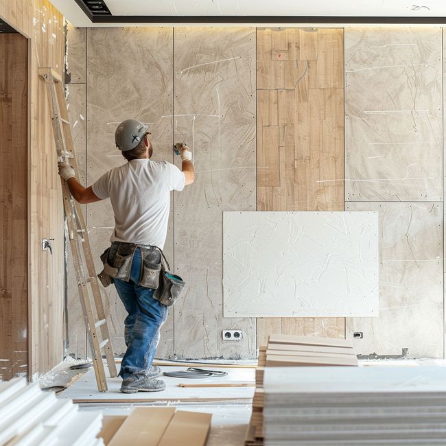
[[[101,412],[79,412],[23,378],[0,382],[1,446],[101,446],[101,428]]]

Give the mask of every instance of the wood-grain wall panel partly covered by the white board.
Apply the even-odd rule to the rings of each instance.
[[[344,210],[343,30],[257,28],[257,210]],[[259,318],[269,333],[344,338],[344,318]]]

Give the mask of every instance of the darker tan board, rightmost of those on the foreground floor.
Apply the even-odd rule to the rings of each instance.
[[[211,430],[212,414],[176,412],[159,446],[204,446]]]

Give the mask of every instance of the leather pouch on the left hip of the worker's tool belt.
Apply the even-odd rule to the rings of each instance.
[[[130,243],[113,243],[101,255],[104,270],[97,274],[104,287],[113,283],[113,279],[121,279],[128,282],[130,280],[130,271],[132,269],[132,260],[134,250],[137,245]]]

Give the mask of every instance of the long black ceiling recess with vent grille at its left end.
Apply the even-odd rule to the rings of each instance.
[[[122,0],[124,1],[124,0]],[[384,16],[114,16],[106,5],[106,0],[75,0],[86,16],[93,23],[277,23],[292,25],[294,23],[370,23],[370,24],[420,24],[429,25],[446,23],[446,17],[384,17]]]

